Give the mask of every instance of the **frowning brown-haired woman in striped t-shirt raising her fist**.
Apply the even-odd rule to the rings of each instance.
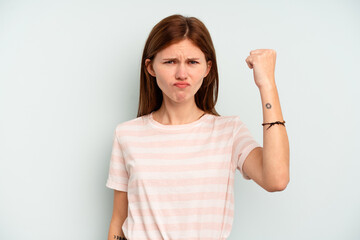
[[[261,147],[238,116],[215,110],[218,71],[205,25],[172,15],[152,29],[141,62],[138,116],[114,133],[106,183],[114,189],[109,240],[226,239],[236,169],[269,192],[285,189],[289,146],[275,54],[258,49],[246,59],[263,103]]]

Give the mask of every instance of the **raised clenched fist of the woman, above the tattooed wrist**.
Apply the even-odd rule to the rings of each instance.
[[[268,86],[275,86],[275,50],[253,50],[250,52],[250,56],[248,56],[245,61],[250,69],[254,69],[254,80],[259,89]]]

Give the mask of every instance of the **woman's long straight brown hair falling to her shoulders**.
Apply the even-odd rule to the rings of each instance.
[[[157,85],[155,77],[148,73],[145,60],[150,59],[152,61],[159,51],[184,39],[191,40],[204,53],[206,61],[211,61],[210,72],[204,78],[201,87],[195,94],[195,103],[204,112],[220,116],[215,110],[218,98],[219,75],[215,48],[210,33],[199,19],[175,14],[157,23],[146,40],[141,58],[140,96],[137,117],[158,110],[163,101],[162,91]]]

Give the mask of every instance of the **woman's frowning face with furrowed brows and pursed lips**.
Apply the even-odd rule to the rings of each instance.
[[[156,77],[164,99],[174,102],[194,100],[211,68],[205,54],[188,39],[168,46],[158,52],[152,62],[147,59],[145,64],[148,72]],[[187,85],[180,87],[178,83]]]

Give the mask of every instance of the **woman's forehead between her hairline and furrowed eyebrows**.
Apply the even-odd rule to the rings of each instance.
[[[171,44],[170,46],[158,52],[157,55],[160,57],[167,57],[168,55],[172,55],[172,57],[205,57],[200,48],[189,39],[181,40],[180,42]]]

